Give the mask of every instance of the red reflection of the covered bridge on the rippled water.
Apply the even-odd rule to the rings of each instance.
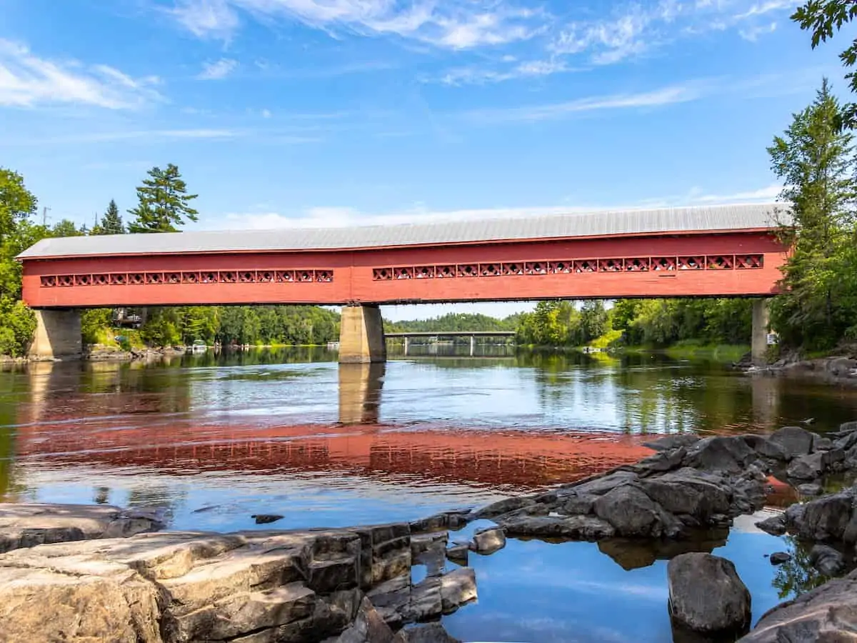
[[[74,375],[51,368],[39,365],[31,372],[32,401],[18,419],[17,457],[37,466],[100,465],[128,475],[343,472],[520,490],[580,478],[648,453],[642,438],[632,436],[386,425],[379,415],[385,364],[339,367],[339,424],[273,426],[194,418],[187,392],[163,399],[145,392],[78,394],[74,400]],[[104,374],[111,366],[99,368]],[[105,408],[110,400],[117,406]]]

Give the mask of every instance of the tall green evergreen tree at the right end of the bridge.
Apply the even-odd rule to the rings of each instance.
[[[839,128],[842,107],[825,80],[812,105],[768,148],[771,166],[792,204],[792,254],[785,293],[771,320],[791,346],[828,349],[857,335],[857,213],[853,135]]]

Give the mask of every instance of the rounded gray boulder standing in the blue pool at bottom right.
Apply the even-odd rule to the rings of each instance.
[[[732,562],[710,554],[681,554],[667,565],[669,613],[700,634],[740,633],[750,624],[750,592]]]

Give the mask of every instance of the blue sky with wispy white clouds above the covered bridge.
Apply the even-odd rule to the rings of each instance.
[[[796,0],[0,0],[0,165],[52,220],[399,223],[770,200],[836,58]]]

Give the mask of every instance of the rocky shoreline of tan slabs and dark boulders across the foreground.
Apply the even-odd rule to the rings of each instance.
[[[857,639],[857,572],[777,606],[747,633],[750,597],[734,566],[692,544],[762,508],[776,475],[812,499],[758,526],[814,545],[812,564],[842,574],[840,552],[857,542],[857,487],[808,494],[820,494],[830,473],[857,473],[857,422],[830,436],[784,427],[648,446],[655,453],[636,464],[554,490],[382,526],[163,532],[154,512],[0,505],[0,640],[453,641],[436,621],[476,598],[470,552],[492,554],[506,538],[671,552],[675,640]],[[450,543],[475,520],[494,526]],[[425,566],[424,580],[413,582],[414,565]],[[54,606],[47,618],[45,601]]]

